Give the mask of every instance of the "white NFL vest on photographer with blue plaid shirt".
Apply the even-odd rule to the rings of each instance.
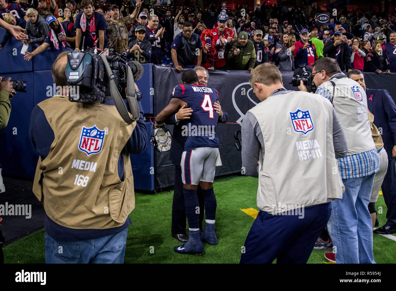
[[[331,82],[335,83],[334,86]],[[375,148],[367,115],[367,97],[364,89],[349,78],[332,78],[321,86],[333,96],[334,110],[343,128],[348,155]],[[334,89],[334,90],[333,90]],[[334,95],[333,95],[334,91]]]

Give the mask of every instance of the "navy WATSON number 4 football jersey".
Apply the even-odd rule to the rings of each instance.
[[[182,127],[182,135],[187,139],[184,150],[209,146],[219,147],[219,138],[215,132],[219,115],[213,104],[219,100],[216,89],[204,85],[177,85],[171,98],[179,98],[192,109],[190,119]]]

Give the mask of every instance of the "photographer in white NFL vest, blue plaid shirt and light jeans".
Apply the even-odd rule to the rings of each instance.
[[[327,224],[337,253],[325,256],[337,263],[375,263],[372,222],[367,205],[375,173],[379,170],[379,157],[371,137],[366,92],[341,72],[335,59],[323,57],[312,67],[313,82],[318,87],[315,93],[333,104],[348,145],[347,156],[338,159],[345,193],[342,200],[331,202]],[[299,89],[307,91],[302,81]]]

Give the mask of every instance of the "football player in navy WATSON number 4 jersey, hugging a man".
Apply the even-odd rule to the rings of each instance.
[[[219,138],[215,132],[219,115],[217,90],[198,85],[194,70],[185,70],[181,76],[183,84],[173,89],[172,98],[155,118],[156,127],[176,110],[185,107],[192,109],[190,120],[183,126],[185,137],[184,152],[181,158],[183,194],[188,221],[189,238],[184,245],[174,248],[177,253],[203,253],[202,242],[217,244],[215,234],[216,197],[213,192],[213,179],[219,160]],[[199,233],[199,203],[197,188],[200,184],[204,196],[206,228]],[[198,207],[198,208],[197,208]]]

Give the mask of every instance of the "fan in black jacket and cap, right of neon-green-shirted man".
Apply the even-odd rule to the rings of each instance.
[[[341,39],[343,33],[340,30],[334,32],[333,40],[326,42],[323,48],[323,55],[337,60],[338,65],[343,72],[352,70],[350,62],[351,50],[346,42]]]

